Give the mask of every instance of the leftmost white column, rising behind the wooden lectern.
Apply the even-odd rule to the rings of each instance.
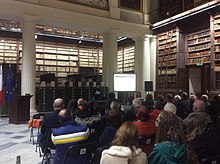
[[[33,95],[30,100],[30,112],[35,109],[35,83],[36,83],[36,49],[35,49],[35,18],[25,16],[22,31],[22,70],[21,95]]]

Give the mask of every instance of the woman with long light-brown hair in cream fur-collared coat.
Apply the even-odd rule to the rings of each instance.
[[[138,148],[138,131],[132,122],[117,130],[112,146],[102,152],[100,164],[146,164],[146,154]]]

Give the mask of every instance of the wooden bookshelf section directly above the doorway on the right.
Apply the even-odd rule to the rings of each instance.
[[[187,64],[210,63],[210,29],[187,34]]]

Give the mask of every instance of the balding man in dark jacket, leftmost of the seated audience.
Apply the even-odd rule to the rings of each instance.
[[[48,143],[47,136],[49,135],[51,129],[60,127],[61,124],[59,122],[59,112],[64,107],[64,101],[61,98],[57,98],[53,103],[54,111],[52,113],[45,114],[43,117],[43,121],[41,124],[41,133],[39,135],[39,144],[43,151],[43,153],[47,153],[49,151],[45,146],[54,149],[55,146],[53,145],[52,141],[49,139]],[[45,150],[46,149],[46,150]],[[46,151],[46,152],[44,152]]]

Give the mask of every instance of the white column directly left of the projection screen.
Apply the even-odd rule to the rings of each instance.
[[[114,30],[104,34],[102,78],[109,91],[113,91],[113,74],[117,72],[117,34]]]

